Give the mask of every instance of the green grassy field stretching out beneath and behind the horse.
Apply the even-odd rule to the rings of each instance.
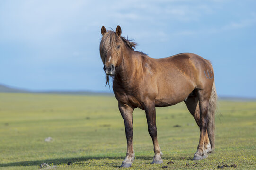
[[[224,168],[230,170],[256,169],[256,102],[219,101],[215,153],[200,161],[192,161],[199,128],[184,103],[157,108],[161,165],[150,164],[154,153],[145,113],[136,109],[133,115],[131,170],[212,170],[225,164],[236,164]],[[47,137],[53,141],[45,142]],[[125,154],[115,97],[0,93],[0,170],[36,170],[43,162],[47,169],[120,169]]]

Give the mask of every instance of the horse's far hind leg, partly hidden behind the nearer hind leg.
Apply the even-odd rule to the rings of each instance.
[[[190,96],[188,96],[187,100],[184,101],[189,112],[192,114],[192,116],[194,117],[196,124],[200,127],[200,109],[199,109],[199,102],[198,102],[198,96],[197,93],[194,91],[193,93],[191,93]],[[207,157],[207,153],[211,153],[212,152],[212,148],[211,148],[211,144],[208,138],[208,133],[206,130],[205,133],[205,137],[204,137],[204,154],[203,158]]]

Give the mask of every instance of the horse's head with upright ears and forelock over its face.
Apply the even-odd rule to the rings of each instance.
[[[115,67],[119,66],[122,61],[120,56],[122,55],[124,42],[122,41],[121,33],[120,26],[116,27],[115,32],[106,31],[104,26],[101,28],[102,39],[99,51],[106,75],[112,76],[115,72]]]

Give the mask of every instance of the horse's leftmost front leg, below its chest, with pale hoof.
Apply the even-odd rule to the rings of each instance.
[[[132,166],[133,159],[134,159],[134,149],[133,149],[133,119],[132,113],[133,108],[122,103],[118,103],[118,107],[120,113],[124,119],[124,126],[125,126],[125,135],[127,140],[127,153],[124,161],[122,162],[121,167],[130,167]]]

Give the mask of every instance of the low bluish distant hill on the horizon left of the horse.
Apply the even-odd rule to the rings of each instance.
[[[3,93],[42,93],[42,94],[66,94],[66,95],[114,95],[107,92],[91,92],[91,91],[30,91],[24,89],[18,89],[9,87],[7,85],[0,84],[0,92]]]

